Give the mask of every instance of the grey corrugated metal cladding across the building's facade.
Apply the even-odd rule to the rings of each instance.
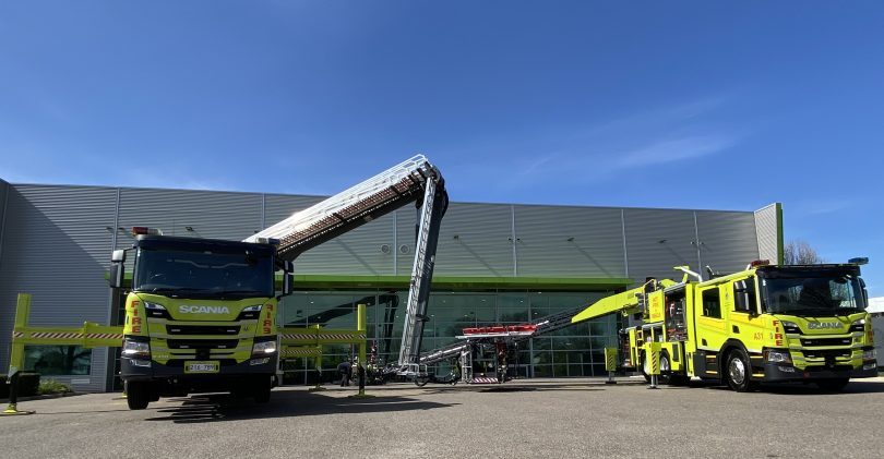
[[[131,245],[129,228],[242,240],[322,198],[0,181],[0,369],[9,362],[19,292],[33,295],[32,325],[109,323],[112,300],[105,276],[111,251]],[[776,253],[781,244],[778,208],[452,203],[442,222],[434,276],[554,283],[673,277],[674,265],[734,271],[760,254]],[[296,273],[408,276],[416,216],[413,207],[401,208],[312,249],[295,261]],[[89,375],[58,379],[73,381],[76,390],[105,390],[108,373],[107,351],[95,349]]]

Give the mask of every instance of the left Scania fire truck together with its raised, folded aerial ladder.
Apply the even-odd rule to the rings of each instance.
[[[165,237],[134,228],[112,254],[110,286],[126,297],[121,373],[129,408],[166,395],[232,391],[270,399],[277,382],[277,311],[303,252],[409,203],[420,208],[398,369],[414,373],[447,193],[439,170],[415,156],[241,242]],[[283,271],[276,291],[276,271]]]

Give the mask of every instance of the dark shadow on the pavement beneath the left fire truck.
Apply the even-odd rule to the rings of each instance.
[[[438,403],[395,396],[357,399],[330,397],[304,391],[274,391],[268,403],[255,403],[251,399],[237,399],[229,395],[206,395],[187,399],[172,399],[172,401],[176,400],[183,400],[182,404],[180,407],[159,407],[156,410],[158,415],[147,418],[145,421],[198,423],[244,419],[302,418],[327,414],[432,410],[458,404]]]

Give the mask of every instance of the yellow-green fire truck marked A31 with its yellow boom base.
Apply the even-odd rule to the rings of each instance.
[[[621,333],[623,366],[660,381],[720,381],[737,391],[758,383],[815,383],[840,390],[850,378],[877,376],[868,293],[851,264],[753,262],[745,270],[681,282],[648,279],[572,318],[621,312],[641,325]],[[697,280],[689,281],[689,274]],[[652,354],[653,352],[653,354]],[[655,372],[656,373],[656,372]]]

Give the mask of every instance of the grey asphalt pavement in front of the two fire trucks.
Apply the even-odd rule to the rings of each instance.
[[[531,379],[274,389],[255,404],[224,395],[130,411],[120,394],[20,403],[0,418],[2,457],[577,458],[882,457],[884,378],[841,394],[770,386],[647,389],[643,381]]]

